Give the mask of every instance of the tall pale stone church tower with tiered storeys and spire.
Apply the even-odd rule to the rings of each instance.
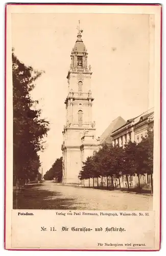
[[[63,178],[62,182],[78,184],[82,162],[99,148],[92,122],[91,67],[82,40],[80,21],[75,46],[70,55],[71,64],[67,74],[68,95],[65,100],[66,124],[63,129]]]

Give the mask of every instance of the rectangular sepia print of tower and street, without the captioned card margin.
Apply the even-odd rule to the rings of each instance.
[[[13,209],[153,209],[154,33],[153,14],[12,13]]]

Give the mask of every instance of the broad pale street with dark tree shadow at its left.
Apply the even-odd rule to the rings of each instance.
[[[14,208],[78,210],[152,210],[153,197],[78,186],[51,181],[29,185],[17,196]]]

